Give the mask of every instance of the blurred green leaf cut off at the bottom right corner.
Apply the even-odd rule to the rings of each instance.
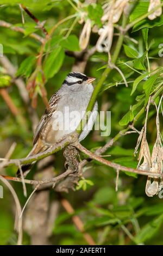
[[[139,233],[135,236],[135,240],[137,241],[137,243],[143,243],[146,240],[151,239],[151,237],[154,236],[159,230],[162,222],[163,214],[144,225]]]

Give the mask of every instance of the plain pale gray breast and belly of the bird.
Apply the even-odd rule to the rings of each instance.
[[[86,111],[87,105],[90,101],[90,97],[93,92],[93,87],[90,88],[89,92],[71,92],[62,95],[59,100],[57,111],[62,115],[62,118],[57,118],[53,115],[53,128],[55,125],[55,132],[53,136],[55,141],[60,139],[62,136],[75,131],[82,120],[84,111]],[[90,115],[89,121],[87,122],[87,127],[84,127],[83,132],[79,136],[79,141],[82,141],[88,133],[92,130],[92,126],[95,123],[97,116],[97,102],[93,108],[93,111]],[[58,122],[58,126],[56,127]],[[62,129],[63,128],[63,129]]]

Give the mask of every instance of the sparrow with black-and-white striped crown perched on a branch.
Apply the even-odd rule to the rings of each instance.
[[[33,148],[27,157],[42,153],[62,137],[77,129],[91,99],[94,90],[93,81],[95,78],[87,77],[80,72],[70,72],[65,77],[60,89],[49,100],[49,106],[45,109],[36,127]],[[82,141],[92,130],[97,112],[96,101],[87,120],[87,128],[86,126],[83,128],[78,138],[79,141]],[[33,164],[34,162],[21,166],[24,177],[29,173]],[[21,176],[20,169],[17,170],[16,176]]]

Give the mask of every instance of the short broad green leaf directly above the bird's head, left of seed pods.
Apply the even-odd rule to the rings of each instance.
[[[80,51],[79,40],[76,35],[70,35],[60,42],[60,45],[69,51]]]

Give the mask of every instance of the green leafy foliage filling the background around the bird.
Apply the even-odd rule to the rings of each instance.
[[[87,48],[96,45],[102,33],[105,1],[87,4],[84,1],[21,1],[39,21],[46,21],[44,27],[51,37],[42,44],[35,39],[33,33],[45,39],[42,29],[23,11],[25,23],[22,23],[20,1],[0,0],[0,20],[11,24],[12,28],[22,28],[23,33],[1,25],[3,54],[7,56],[17,72],[13,78],[10,70],[3,66],[0,59],[0,155],[5,157],[12,143],[16,148],[11,158],[25,157],[32,148],[32,120],[28,107],[41,117],[47,99],[56,92],[72,66],[76,63],[72,51],[79,53],[79,38],[85,22],[91,24],[90,40]],[[96,1],[95,1],[96,2]],[[99,109],[111,110],[111,135],[101,137],[100,132],[92,131],[82,144],[91,151],[105,145],[111,138],[115,143],[107,149],[105,158],[122,166],[136,168],[137,157],[134,156],[138,133],[122,136],[131,122],[141,131],[145,125],[146,107],[149,97],[153,96],[153,104],[149,107],[147,123],[147,141],[152,149],[157,137],[156,108],[162,94],[162,57],[159,57],[161,44],[163,14],[149,20],[147,14],[148,1],[136,1],[126,24],[125,15],[114,24],[114,36],[110,50],[111,63],[116,68],[108,68],[108,53],[96,51],[89,57],[85,74],[96,77],[96,83],[102,82],[98,93]],[[68,19],[67,19],[68,17]],[[121,29],[140,18],[121,38]],[[62,22],[60,22],[62,21]],[[55,27],[55,25],[57,25]],[[118,26],[116,26],[118,25]],[[121,29],[120,29],[120,26]],[[52,29],[55,27],[54,31]],[[98,34],[98,32],[100,32]],[[109,32],[110,33],[110,32]],[[123,34],[123,33],[122,33]],[[117,40],[118,36],[118,40]],[[122,40],[121,40],[122,39]],[[85,42],[84,42],[85,43]],[[83,43],[83,44],[84,44]],[[116,49],[120,46],[119,52]],[[42,47],[43,45],[43,47]],[[42,53],[41,53],[42,52]],[[42,55],[41,55],[42,54]],[[3,57],[0,57],[3,58]],[[124,78],[128,87],[125,86]],[[30,101],[25,104],[15,80],[22,78],[27,84]],[[11,100],[18,109],[14,115],[8,106],[1,89],[7,89]],[[162,135],[162,113],[160,108],[160,134]],[[125,130],[125,131],[124,131]],[[121,132],[121,133],[120,133]],[[81,154],[81,158],[85,156]],[[64,157],[57,154],[53,164],[55,174],[64,171]],[[36,170],[36,167],[34,167]],[[3,170],[4,172],[4,170]],[[8,175],[15,175],[16,167],[5,169]],[[33,176],[32,174],[29,177]],[[76,191],[62,193],[75,209],[84,223],[85,230],[91,234],[97,245],[161,245],[163,226],[162,199],[158,196],[147,197],[145,194],[146,176],[135,173],[120,172],[118,191],[115,191],[116,172],[97,161],[84,167],[85,178],[79,181]],[[12,182],[22,205],[26,202],[22,184]],[[2,184],[1,184],[2,185]],[[27,186],[28,196],[32,186]],[[58,193],[51,190],[50,201],[58,199]],[[10,192],[5,188],[4,199],[0,199],[0,241],[3,245],[15,245],[17,241],[14,230],[12,210],[14,202]],[[85,244],[83,234],[72,222],[72,215],[60,209],[54,221],[52,244],[76,245]],[[24,235],[23,244],[30,244],[30,237]]]

